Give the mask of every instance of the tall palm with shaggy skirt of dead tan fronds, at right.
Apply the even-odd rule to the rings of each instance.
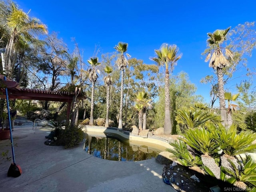
[[[206,56],[205,62],[209,62],[209,67],[214,68],[218,77],[218,98],[220,101],[220,115],[224,124],[227,123],[225,96],[224,96],[224,81],[223,81],[223,68],[230,66],[228,59],[232,59],[232,52],[227,48],[222,47],[222,43],[226,40],[226,34],[230,27],[226,30],[216,30],[213,33],[208,33],[208,44],[210,46],[209,53]],[[225,55],[223,51],[225,50]]]

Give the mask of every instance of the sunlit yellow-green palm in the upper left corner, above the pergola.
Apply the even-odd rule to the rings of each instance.
[[[19,38],[30,42],[34,35],[46,34],[46,26],[41,24],[36,18],[30,18],[28,14],[18,9],[12,4],[11,14],[7,18],[7,26],[11,31],[10,38],[4,52],[4,63],[6,68],[6,76],[10,77],[14,70],[18,47],[16,46]]]

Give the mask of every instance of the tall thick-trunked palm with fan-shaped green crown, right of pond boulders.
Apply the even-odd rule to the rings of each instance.
[[[169,68],[172,72],[174,65],[181,58],[181,54],[178,53],[178,47],[176,45],[170,45],[163,43],[159,50],[155,50],[157,57],[152,58],[159,66],[165,67],[165,87],[164,87],[164,134],[171,134],[172,122],[170,118],[170,84],[169,84]]]

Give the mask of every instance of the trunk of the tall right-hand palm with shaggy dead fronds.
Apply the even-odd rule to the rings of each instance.
[[[227,124],[227,114],[226,114],[226,104],[224,97],[224,82],[223,82],[223,71],[222,68],[217,68],[217,76],[218,76],[218,97],[220,101],[220,116],[223,121],[222,124]]]

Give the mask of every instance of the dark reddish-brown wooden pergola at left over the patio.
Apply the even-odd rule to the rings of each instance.
[[[4,75],[0,75],[0,98],[6,99],[5,88],[8,88],[9,99],[27,99],[27,100],[43,100],[67,102],[67,122],[69,122],[70,108],[74,101],[75,93],[67,91],[50,91],[40,89],[20,88],[18,83],[8,78],[4,80]]]

